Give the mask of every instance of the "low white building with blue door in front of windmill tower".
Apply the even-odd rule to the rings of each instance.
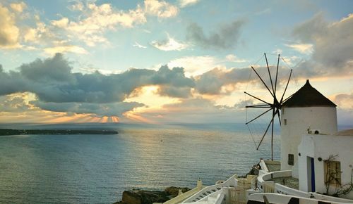
[[[352,185],[353,131],[304,134],[298,152],[300,191],[334,195]],[[340,197],[353,199],[353,191]]]

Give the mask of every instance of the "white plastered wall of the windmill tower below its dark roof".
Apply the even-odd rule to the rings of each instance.
[[[292,170],[288,154],[294,155],[296,165],[301,136],[308,134],[308,128],[319,129],[321,134],[337,132],[335,107],[282,107],[281,112],[281,170]]]

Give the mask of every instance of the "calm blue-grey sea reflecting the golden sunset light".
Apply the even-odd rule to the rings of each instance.
[[[116,135],[0,136],[0,203],[114,203],[128,189],[214,184],[269,158],[244,125],[0,125]],[[280,141],[275,136],[275,158]]]

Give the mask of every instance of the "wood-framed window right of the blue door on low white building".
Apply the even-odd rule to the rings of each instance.
[[[341,162],[324,160],[323,173],[325,177],[325,184],[341,184]]]

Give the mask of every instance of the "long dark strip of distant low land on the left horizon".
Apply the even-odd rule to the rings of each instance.
[[[26,134],[118,134],[118,132],[114,130],[94,129],[0,129],[0,136]]]

